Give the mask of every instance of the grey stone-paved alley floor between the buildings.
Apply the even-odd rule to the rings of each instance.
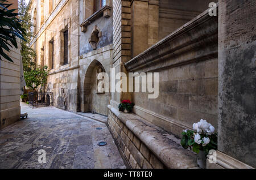
[[[20,106],[28,118],[0,130],[0,168],[126,168],[104,123],[54,107]],[[107,144],[100,147],[102,140]],[[45,164],[38,162],[40,149]]]

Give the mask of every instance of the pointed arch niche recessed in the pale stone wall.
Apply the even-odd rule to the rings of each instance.
[[[110,93],[101,91],[97,88],[97,74],[105,72],[104,66],[94,59],[88,66],[84,78],[84,105],[83,112],[93,112],[102,115],[108,115],[108,104],[110,101]]]

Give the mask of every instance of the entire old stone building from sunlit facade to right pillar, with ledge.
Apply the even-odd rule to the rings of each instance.
[[[183,129],[191,129],[193,122],[201,118],[207,119],[223,135],[217,151],[223,163],[208,164],[208,168],[255,166],[255,138],[251,143],[245,141],[243,147],[236,142],[245,150],[244,157],[239,152],[242,150],[230,151],[223,143],[234,141],[224,132],[232,131],[225,121],[242,118],[246,119],[245,125],[251,122],[255,127],[255,108],[252,108],[255,101],[251,101],[255,100],[255,84],[243,97],[251,99],[250,108],[241,110],[245,111],[243,115],[229,119],[225,119],[228,117],[225,113],[232,108],[229,101],[235,98],[241,106],[244,102],[242,97],[239,100],[234,97],[239,92],[226,97],[224,91],[229,90],[222,89],[222,85],[232,89],[232,84],[225,84],[224,80],[229,66],[238,68],[230,62],[222,66],[223,61],[229,61],[225,60],[223,48],[230,46],[227,41],[241,45],[238,40],[231,40],[226,31],[235,33],[241,24],[253,24],[255,2],[220,1],[217,15],[209,15],[210,2],[217,1],[31,0],[35,35],[31,46],[36,49],[36,62],[49,67],[44,89],[51,93],[52,105],[71,112],[108,115],[115,143],[131,168],[195,168],[195,154],[181,148],[178,138]],[[232,15],[234,18],[226,14],[226,11],[233,13],[236,7],[241,14],[242,8],[250,12],[251,20],[241,22],[236,29],[220,28],[220,22],[230,19],[230,24],[226,24],[230,26],[236,22],[236,14]],[[243,42],[252,48],[255,40],[252,34],[245,33]],[[246,57],[248,61],[253,58],[253,52],[250,53]],[[255,68],[255,63],[248,66]],[[96,77],[100,72],[111,77],[112,69],[115,74],[127,75],[128,72],[159,72],[159,96],[148,98],[148,91],[110,92],[105,87],[102,90]],[[253,83],[253,75],[247,76]],[[122,86],[126,83],[122,78],[121,82]],[[241,93],[245,92],[241,90]],[[118,112],[118,104],[124,99],[135,103],[134,114]],[[232,123],[236,127],[239,122]],[[247,129],[241,131],[246,137],[253,133]]]

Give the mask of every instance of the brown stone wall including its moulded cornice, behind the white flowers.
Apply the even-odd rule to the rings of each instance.
[[[133,93],[134,113],[177,136],[201,118],[217,128],[217,31],[207,10],[125,63],[129,72],[159,72],[158,98]]]

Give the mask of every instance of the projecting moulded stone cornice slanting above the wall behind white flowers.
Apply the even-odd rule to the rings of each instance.
[[[217,58],[218,18],[204,11],[129,62],[128,71],[159,71]]]

